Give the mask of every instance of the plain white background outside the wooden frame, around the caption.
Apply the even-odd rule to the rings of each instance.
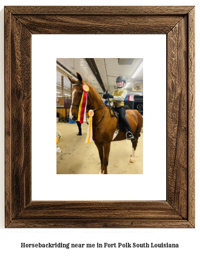
[[[83,2],[74,1],[73,3],[70,1],[48,1],[48,5],[80,5]],[[116,5],[116,2],[111,1],[96,1],[95,5]],[[1,35],[3,35],[4,31],[4,5],[27,5],[26,1],[5,1],[3,0],[1,5]],[[45,5],[45,1],[34,1],[30,2],[30,5]],[[84,1],[84,5],[92,5],[90,1]],[[82,5],[83,5],[82,4]],[[196,24],[200,24],[199,22],[199,3],[197,1],[123,1],[120,2],[119,5],[195,5],[196,6]],[[94,4],[93,4],[94,5]],[[196,56],[199,56],[199,29],[196,26]],[[148,253],[149,255],[189,255],[194,254],[197,255],[199,252],[199,235],[200,235],[200,227],[199,227],[199,158],[197,153],[199,152],[199,122],[196,118],[196,222],[195,229],[5,229],[4,228],[4,39],[1,36],[1,50],[0,50],[0,77],[1,77],[1,85],[0,85],[0,110],[1,110],[1,147],[0,147],[0,157],[1,157],[1,168],[0,168],[0,252],[2,255],[43,255],[44,253],[48,253],[48,255],[78,255],[80,253],[87,253],[88,255],[102,255],[104,254],[125,254],[125,255],[138,255],[139,253]],[[93,56],[92,56],[93,57]],[[196,84],[199,84],[199,58],[196,58]],[[198,117],[199,110],[199,88],[196,86],[196,117]],[[152,168],[150,167],[152,170]],[[121,175],[120,175],[121,176]],[[136,175],[134,175],[136,176]],[[141,175],[142,176],[142,175]],[[119,249],[119,248],[82,248],[82,249],[22,249],[20,248],[20,243],[46,243],[46,242],[62,242],[62,243],[118,243],[118,242],[171,242],[171,243],[179,243],[179,248],[127,248],[127,249]]]

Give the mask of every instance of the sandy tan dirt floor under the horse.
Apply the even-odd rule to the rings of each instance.
[[[85,143],[88,125],[82,124],[82,136],[78,136],[77,124],[56,123],[61,132],[56,153],[57,174],[98,174],[100,158],[94,141]],[[132,143],[129,140],[111,142],[108,174],[143,174],[143,130],[136,149],[135,163],[130,163]]]

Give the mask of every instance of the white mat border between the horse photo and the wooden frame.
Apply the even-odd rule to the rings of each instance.
[[[81,42],[80,35],[32,35],[33,200],[166,200],[166,35],[120,36],[125,46],[116,43],[119,35],[81,35]],[[74,50],[65,52],[66,45]],[[56,57],[84,56],[144,60],[143,175],[56,175],[55,61]],[[45,60],[45,65],[41,60]],[[159,106],[152,110],[153,97],[160,100]],[[38,98],[46,100],[46,121],[40,115]]]

